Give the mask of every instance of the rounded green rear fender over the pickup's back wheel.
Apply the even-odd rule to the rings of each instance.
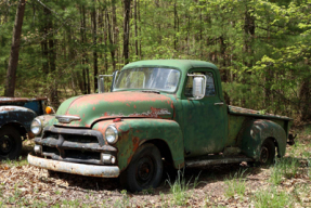
[[[263,141],[272,138],[277,143],[277,155],[283,157],[286,148],[286,132],[277,123],[271,120],[251,120],[241,134],[242,152],[256,160],[260,157],[260,148]]]

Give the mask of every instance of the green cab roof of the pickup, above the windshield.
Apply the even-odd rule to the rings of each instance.
[[[217,66],[204,61],[196,60],[146,60],[132,62],[127,64],[122,69],[138,68],[138,67],[166,67],[166,68],[179,68],[186,72],[190,68],[212,68],[218,70]]]

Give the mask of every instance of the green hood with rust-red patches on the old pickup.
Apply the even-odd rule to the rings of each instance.
[[[62,103],[54,125],[90,128],[95,121],[114,118],[164,118],[173,116],[171,95],[154,92],[109,92],[75,96]],[[63,118],[73,118],[65,122]]]

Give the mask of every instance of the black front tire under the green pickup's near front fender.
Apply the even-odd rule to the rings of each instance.
[[[138,148],[128,168],[121,172],[124,187],[134,193],[157,187],[163,177],[160,152],[154,144],[144,144]]]

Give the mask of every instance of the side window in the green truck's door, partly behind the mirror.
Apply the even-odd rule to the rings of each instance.
[[[200,72],[198,72],[198,73],[193,73],[193,75],[205,75],[205,77],[206,77],[205,96],[216,95],[215,81],[213,81],[212,73],[203,73],[203,72],[200,73]],[[187,77],[186,84],[185,84],[185,91],[184,91],[185,96],[192,96],[193,78],[194,77]]]

